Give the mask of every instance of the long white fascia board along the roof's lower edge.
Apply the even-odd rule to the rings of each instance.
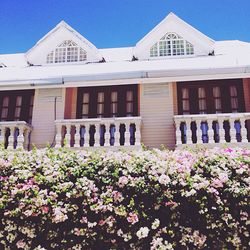
[[[113,76],[113,77],[112,77]],[[250,67],[183,70],[183,71],[138,71],[122,74],[90,76],[65,76],[63,78],[22,81],[2,81],[1,90],[37,89],[56,87],[110,86],[123,84],[147,84],[178,81],[198,81],[212,79],[250,78]]]

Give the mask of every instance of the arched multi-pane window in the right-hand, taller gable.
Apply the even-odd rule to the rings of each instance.
[[[193,55],[194,47],[175,33],[167,33],[150,48],[150,57]]]

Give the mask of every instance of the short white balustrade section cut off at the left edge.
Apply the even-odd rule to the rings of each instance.
[[[31,125],[25,121],[0,122],[0,143],[7,149],[28,149]]]

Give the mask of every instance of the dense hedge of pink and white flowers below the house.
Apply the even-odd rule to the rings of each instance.
[[[249,249],[250,151],[0,151],[0,249]]]

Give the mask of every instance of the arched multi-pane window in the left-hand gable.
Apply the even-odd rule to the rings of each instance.
[[[66,40],[47,55],[47,63],[83,62],[87,53],[75,42]]]

